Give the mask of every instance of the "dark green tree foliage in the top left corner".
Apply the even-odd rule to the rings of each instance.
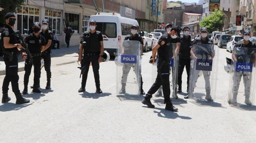
[[[25,0],[0,0],[0,7],[4,8],[4,10],[0,12],[0,27],[5,24],[5,14],[8,12],[16,12],[17,8],[23,5],[24,2]]]

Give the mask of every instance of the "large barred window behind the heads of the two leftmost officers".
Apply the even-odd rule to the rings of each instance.
[[[17,13],[17,29],[21,34],[28,34],[35,22],[39,21],[39,8],[22,6]]]

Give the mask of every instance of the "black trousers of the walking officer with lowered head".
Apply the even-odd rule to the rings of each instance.
[[[157,78],[156,82],[151,86],[147,92],[148,95],[152,95],[157,92],[159,87],[163,86],[164,102],[170,101],[170,65],[169,61],[164,62],[159,59],[157,64]]]

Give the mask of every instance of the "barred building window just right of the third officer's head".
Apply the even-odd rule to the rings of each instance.
[[[61,11],[52,11],[45,9],[45,19],[48,19],[50,31],[55,30],[56,34],[60,34],[60,21],[61,21]]]

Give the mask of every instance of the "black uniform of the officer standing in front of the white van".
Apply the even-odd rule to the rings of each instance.
[[[82,65],[85,66],[86,70],[82,77],[81,86],[83,89],[85,88],[90,63],[92,63],[92,70],[94,74],[96,89],[97,91],[100,91],[98,59],[100,56],[100,41],[103,41],[103,36],[100,31],[96,31],[95,33],[85,31],[83,36],[84,38],[81,39],[80,44],[82,44],[83,41],[85,41],[87,45],[86,47],[83,47],[84,55]]]

